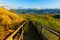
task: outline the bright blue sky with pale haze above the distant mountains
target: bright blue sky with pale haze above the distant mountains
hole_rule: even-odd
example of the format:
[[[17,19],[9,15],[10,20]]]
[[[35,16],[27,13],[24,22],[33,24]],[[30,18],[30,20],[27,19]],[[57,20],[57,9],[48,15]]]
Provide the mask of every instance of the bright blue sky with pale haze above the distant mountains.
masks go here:
[[[1,0],[13,8],[60,8],[60,0]]]

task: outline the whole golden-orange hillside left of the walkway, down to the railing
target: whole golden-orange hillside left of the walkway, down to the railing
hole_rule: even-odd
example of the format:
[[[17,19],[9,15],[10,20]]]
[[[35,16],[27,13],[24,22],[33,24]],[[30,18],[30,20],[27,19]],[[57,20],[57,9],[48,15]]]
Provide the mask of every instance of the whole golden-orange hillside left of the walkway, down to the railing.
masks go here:
[[[3,40],[6,35],[13,32],[23,21],[21,16],[0,7],[0,39]]]

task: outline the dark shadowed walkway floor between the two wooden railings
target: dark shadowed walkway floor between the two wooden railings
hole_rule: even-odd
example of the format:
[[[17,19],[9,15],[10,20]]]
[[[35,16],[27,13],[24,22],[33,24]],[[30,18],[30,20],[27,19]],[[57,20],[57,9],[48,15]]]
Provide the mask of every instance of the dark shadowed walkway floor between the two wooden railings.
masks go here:
[[[32,23],[32,21],[29,21],[28,25],[29,25],[29,31],[25,33],[24,40],[47,40],[47,38],[44,35],[42,35],[42,33],[38,33],[38,30],[36,26]]]

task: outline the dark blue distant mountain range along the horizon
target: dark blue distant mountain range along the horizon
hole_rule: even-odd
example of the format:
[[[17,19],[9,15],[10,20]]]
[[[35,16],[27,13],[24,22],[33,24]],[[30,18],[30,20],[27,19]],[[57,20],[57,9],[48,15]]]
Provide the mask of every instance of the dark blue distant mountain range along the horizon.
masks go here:
[[[41,14],[41,13],[50,13],[50,14],[60,14],[60,9],[15,9],[15,12],[17,13],[35,13],[35,14]]]

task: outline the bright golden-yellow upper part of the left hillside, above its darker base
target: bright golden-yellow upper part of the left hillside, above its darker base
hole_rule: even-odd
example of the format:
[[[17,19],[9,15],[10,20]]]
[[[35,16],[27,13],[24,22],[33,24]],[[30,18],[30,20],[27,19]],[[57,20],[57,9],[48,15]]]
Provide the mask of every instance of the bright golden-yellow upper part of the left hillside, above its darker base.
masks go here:
[[[2,7],[0,7],[0,25],[9,25],[12,23],[22,22],[23,18],[18,14],[12,13]]]

